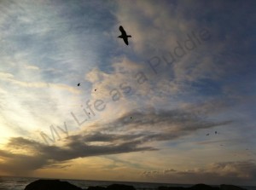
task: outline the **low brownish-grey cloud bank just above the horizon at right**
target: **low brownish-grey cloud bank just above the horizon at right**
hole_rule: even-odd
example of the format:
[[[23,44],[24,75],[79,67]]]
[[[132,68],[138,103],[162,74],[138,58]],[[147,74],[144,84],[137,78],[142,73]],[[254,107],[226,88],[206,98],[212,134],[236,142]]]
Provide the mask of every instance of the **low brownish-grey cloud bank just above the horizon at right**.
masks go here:
[[[167,172],[165,172],[167,171]],[[255,181],[256,163],[252,160],[220,162],[201,165],[201,168],[189,170],[149,170],[143,171],[142,176],[148,180],[168,182],[183,182],[195,184],[204,181],[208,184],[231,183],[249,185]],[[170,181],[171,179],[171,181]]]

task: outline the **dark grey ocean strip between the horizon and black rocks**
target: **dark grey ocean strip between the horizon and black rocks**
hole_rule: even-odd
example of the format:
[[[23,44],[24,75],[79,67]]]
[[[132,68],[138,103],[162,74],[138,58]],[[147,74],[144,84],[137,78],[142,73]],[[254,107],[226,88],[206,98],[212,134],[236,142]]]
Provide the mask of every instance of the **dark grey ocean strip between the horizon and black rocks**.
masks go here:
[[[0,177],[0,190],[24,190],[26,185],[32,181],[36,181],[39,178],[28,178],[28,177]],[[40,178],[42,179],[42,178]],[[89,181],[89,180],[61,180],[68,181],[73,185],[82,187],[83,189],[90,186],[102,186],[107,187],[113,183],[131,185],[137,190],[156,190],[160,186],[168,187],[191,187],[189,184],[170,184],[170,183],[149,183],[149,182],[127,182],[127,181]],[[195,184],[193,184],[195,185]],[[247,190],[256,190],[256,187],[244,187]]]

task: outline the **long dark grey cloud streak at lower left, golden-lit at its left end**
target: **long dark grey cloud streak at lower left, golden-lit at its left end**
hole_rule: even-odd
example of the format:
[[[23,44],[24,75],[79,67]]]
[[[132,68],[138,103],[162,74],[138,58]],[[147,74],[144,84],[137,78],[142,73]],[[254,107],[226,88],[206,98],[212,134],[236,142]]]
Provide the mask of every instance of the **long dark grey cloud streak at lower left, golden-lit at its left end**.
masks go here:
[[[74,158],[84,158],[117,153],[152,151],[153,147],[139,147],[140,141],[109,142],[109,145],[87,145],[82,136],[70,136],[65,147],[46,146],[22,137],[12,138],[7,150],[0,152],[0,169],[10,174],[22,174],[50,167]],[[20,153],[13,153],[13,151]],[[23,150],[26,153],[22,153]]]

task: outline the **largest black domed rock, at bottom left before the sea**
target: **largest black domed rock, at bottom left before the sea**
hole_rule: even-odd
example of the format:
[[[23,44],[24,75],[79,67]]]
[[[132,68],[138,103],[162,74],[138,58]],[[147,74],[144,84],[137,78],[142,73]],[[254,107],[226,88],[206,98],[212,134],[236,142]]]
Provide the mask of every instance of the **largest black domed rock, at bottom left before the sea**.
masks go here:
[[[37,180],[28,184],[25,190],[82,190],[67,181],[60,180]]]

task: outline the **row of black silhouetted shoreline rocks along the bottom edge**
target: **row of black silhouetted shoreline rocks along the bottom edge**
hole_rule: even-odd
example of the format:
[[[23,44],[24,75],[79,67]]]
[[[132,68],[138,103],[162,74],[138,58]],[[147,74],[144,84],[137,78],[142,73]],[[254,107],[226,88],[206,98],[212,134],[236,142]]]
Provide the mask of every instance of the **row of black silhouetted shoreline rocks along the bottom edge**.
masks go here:
[[[37,180],[28,184],[24,190],[136,190],[135,187],[123,184],[112,184],[108,187],[88,187],[82,189],[67,181],[60,180]],[[157,190],[246,190],[242,187],[233,185],[220,185],[219,187],[212,187],[206,184],[196,184],[192,187],[158,187]]]

